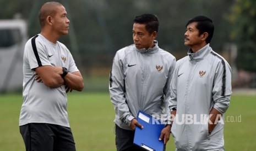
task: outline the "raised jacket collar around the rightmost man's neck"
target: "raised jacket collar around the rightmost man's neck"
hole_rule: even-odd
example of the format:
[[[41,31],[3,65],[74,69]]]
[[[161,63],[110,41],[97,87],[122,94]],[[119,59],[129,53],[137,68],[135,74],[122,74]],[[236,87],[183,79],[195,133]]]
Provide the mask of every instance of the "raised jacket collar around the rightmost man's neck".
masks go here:
[[[188,50],[189,60],[200,61],[209,54],[211,51],[210,44],[206,44],[203,48],[199,49],[196,53],[193,53],[192,49]]]

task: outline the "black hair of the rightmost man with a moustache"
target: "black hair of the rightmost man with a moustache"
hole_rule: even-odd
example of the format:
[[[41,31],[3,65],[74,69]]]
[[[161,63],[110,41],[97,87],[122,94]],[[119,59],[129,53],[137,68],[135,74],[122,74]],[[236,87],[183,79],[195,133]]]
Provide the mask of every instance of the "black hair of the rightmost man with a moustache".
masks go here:
[[[213,20],[206,16],[196,16],[188,21],[186,27],[192,22],[197,22],[197,25],[195,27],[199,30],[199,35],[203,34],[204,32],[208,33],[208,37],[205,41],[206,43],[210,43],[211,38],[213,38],[214,34]]]

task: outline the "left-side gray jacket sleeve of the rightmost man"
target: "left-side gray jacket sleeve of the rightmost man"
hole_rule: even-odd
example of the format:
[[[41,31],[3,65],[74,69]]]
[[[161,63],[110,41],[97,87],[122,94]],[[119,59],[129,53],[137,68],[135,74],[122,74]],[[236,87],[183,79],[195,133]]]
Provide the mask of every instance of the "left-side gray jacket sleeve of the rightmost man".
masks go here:
[[[170,85],[170,99],[168,100],[169,103],[169,109],[171,110],[172,108],[177,108],[177,74],[178,74],[178,69],[177,69],[177,63],[175,66],[175,69],[172,74],[172,80],[171,80],[171,85]]]

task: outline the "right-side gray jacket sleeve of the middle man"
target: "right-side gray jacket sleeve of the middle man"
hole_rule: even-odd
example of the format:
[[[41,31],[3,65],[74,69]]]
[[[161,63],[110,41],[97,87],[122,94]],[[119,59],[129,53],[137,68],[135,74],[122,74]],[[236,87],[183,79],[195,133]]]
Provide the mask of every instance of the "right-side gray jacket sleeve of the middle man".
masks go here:
[[[171,80],[172,80],[172,74],[173,74],[175,64],[176,64],[176,59],[173,58],[173,60],[171,60],[170,63],[171,63],[171,66],[169,69],[168,78],[167,78],[166,85],[164,88],[166,114],[170,114],[170,109],[169,109],[169,100],[171,98],[170,85],[171,85]]]

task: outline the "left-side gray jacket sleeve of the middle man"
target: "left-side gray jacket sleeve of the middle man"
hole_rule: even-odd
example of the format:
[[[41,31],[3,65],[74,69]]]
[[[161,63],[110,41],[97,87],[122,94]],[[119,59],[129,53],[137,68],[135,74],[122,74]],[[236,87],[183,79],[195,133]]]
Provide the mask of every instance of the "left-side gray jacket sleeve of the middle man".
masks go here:
[[[127,125],[130,125],[130,122],[134,117],[129,112],[129,107],[126,103],[126,95],[124,94],[124,78],[123,60],[117,52],[113,59],[113,65],[110,72],[110,99],[115,108],[116,118],[120,119]]]

